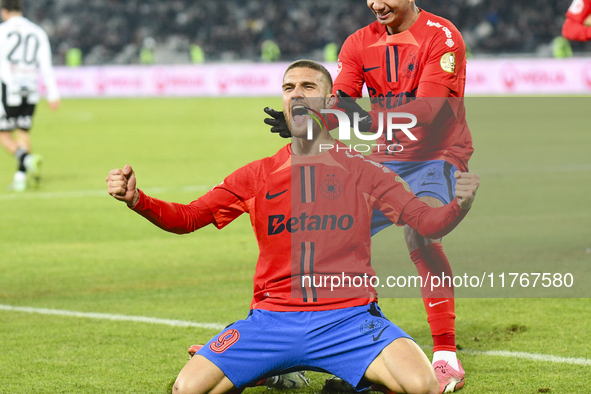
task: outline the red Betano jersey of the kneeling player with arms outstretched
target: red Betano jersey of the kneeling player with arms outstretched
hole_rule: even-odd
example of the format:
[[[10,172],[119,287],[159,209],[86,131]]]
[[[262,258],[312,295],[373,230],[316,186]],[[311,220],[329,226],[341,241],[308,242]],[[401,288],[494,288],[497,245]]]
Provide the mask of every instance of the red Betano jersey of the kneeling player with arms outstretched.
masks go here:
[[[273,311],[339,309],[376,299],[371,285],[322,285],[331,275],[375,275],[370,264],[374,209],[428,238],[447,234],[467,212],[456,200],[428,207],[397,174],[340,143],[308,157],[293,155],[287,145],[235,171],[190,204],[140,192],[133,209],[179,234],[208,224],[221,229],[248,213],[260,251],[251,307]]]

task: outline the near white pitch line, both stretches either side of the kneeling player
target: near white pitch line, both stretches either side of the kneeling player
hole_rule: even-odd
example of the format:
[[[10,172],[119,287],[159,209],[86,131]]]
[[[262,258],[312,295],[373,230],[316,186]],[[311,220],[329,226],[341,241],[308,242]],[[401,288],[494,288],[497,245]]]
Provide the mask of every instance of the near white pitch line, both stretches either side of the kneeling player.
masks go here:
[[[86,319],[99,319],[99,320],[111,320],[111,321],[129,321],[138,323],[149,323],[149,324],[162,324],[172,327],[195,327],[195,328],[207,328],[211,330],[220,331],[226,327],[225,324],[220,323],[196,323],[183,320],[169,320],[169,319],[158,319],[155,317],[146,316],[128,316],[128,315],[114,315],[111,313],[89,313],[89,312],[74,312],[62,309],[47,309],[47,308],[31,308],[25,306],[11,306],[0,304],[0,310],[9,312],[25,312],[25,313],[36,313],[41,315],[54,315],[54,316],[67,316],[67,317],[80,317]],[[430,347],[424,347],[429,348]],[[591,359],[588,358],[575,358],[575,357],[559,357],[551,354],[539,354],[539,353],[525,353],[525,352],[510,352],[506,350],[460,350],[461,353],[482,355],[482,356],[495,356],[495,357],[507,357],[507,358],[519,358],[538,362],[551,362],[559,364],[571,364],[571,365],[583,365],[591,366]]]

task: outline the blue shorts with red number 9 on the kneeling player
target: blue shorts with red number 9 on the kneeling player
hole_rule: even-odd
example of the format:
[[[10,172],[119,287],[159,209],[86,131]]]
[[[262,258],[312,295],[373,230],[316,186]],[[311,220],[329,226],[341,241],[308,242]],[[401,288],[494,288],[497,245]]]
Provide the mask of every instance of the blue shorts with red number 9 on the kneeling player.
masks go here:
[[[371,362],[398,338],[410,338],[376,303],[313,312],[253,309],[197,354],[220,368],[234,386],[294,371],[334,374],[357,390]]]

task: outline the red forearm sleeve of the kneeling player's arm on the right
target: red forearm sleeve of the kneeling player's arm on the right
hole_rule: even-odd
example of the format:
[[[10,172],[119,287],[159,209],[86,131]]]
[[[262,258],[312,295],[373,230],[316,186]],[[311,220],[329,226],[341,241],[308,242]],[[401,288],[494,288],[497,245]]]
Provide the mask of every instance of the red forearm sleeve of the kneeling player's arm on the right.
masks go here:
[[[439,208],[432,208],[415,198],[402,211],[400,219],[425,238],[437,239],[449,234],[460,222],[468,209],[462,209],[457,199]]]

